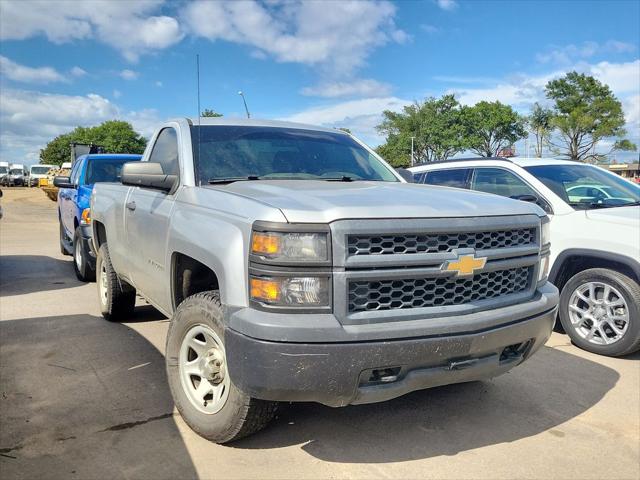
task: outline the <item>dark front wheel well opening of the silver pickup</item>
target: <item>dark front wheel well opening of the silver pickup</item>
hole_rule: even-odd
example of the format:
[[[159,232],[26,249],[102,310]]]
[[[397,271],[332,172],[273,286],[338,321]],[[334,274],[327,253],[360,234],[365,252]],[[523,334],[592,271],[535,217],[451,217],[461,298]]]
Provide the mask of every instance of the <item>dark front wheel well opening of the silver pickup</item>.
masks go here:
[[[174,308],[191,295],[220,288],[215,272],[205,264],[187,255],[174,253],[172,265]]]

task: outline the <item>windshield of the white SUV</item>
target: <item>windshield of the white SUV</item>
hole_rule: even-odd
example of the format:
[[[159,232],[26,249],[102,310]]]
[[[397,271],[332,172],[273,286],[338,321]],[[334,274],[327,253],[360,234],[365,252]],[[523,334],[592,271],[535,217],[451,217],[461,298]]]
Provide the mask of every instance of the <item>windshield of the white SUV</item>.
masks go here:
[[[640,202],[640,186],[592,165],[525,167],[573,208],[620,207]]]

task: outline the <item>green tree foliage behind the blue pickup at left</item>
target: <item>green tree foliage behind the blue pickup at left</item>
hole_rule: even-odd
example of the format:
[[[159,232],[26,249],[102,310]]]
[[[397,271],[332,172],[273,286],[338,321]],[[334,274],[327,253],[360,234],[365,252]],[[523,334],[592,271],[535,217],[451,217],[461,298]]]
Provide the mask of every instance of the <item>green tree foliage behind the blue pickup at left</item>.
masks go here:
[[[76,127],[58,135],[40,150],[40,163],[61,165],[71,160],[72,143],[93,143],[108,153],[143,153],[147,140],[130,123],[109,120],[95,127]]]

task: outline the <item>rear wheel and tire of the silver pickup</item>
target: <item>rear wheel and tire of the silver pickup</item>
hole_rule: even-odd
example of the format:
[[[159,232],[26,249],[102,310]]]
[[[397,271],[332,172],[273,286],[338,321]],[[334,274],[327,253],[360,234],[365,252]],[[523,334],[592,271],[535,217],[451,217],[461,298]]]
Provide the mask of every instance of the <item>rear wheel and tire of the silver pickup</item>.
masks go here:
[[[98,251],[96,274],[102,316],[110,322],[118,322],[129,317],[136,304],[136,291],[118,277],[111,265],[106,243],[100,245]]]

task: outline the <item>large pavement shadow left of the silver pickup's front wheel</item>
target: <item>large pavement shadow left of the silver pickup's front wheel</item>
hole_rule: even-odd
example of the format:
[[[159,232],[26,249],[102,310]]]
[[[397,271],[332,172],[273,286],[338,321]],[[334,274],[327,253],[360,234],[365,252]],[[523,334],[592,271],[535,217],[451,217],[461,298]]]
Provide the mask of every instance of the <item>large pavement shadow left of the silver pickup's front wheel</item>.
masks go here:
[[[164,357],[137,332],[71,315],[0,322],[0,338],[2,478],[197,477]]]

